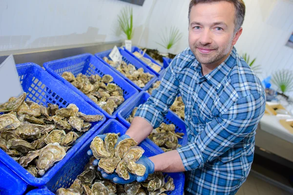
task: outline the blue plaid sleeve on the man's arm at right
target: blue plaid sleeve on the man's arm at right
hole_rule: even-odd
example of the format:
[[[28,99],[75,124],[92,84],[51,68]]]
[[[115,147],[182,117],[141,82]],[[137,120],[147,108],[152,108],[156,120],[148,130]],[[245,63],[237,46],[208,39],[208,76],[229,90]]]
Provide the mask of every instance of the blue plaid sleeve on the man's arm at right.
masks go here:
[[[201,168],[255,131],[265,112],[265,95],[238,99],[228,111],[207,123],[194,142],[177,149],[186,171]]]

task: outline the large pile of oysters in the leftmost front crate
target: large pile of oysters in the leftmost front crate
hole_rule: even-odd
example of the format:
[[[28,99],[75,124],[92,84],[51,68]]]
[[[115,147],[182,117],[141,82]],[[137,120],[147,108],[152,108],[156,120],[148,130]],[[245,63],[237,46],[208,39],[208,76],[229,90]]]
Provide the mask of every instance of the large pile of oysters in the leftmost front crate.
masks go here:
[[[0,148],[33,176],[43,176],[63,159],[75,140],[103,116],[85,115],[74,104],[43,107],[26,93],[0,104]]]

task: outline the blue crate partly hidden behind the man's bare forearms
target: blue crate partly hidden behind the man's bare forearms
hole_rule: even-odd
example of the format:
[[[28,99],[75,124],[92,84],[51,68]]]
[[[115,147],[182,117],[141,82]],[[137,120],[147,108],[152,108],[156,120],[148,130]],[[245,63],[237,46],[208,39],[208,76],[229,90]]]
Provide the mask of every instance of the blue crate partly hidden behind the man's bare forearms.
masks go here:
[[[146,100],[150,97],[150,95],[146,92],[140,92],[139,95],[136,98],[133,98],[121,111],[118,113],[118,119],[119,121],[124,124],[126,127],[130,126],[130,123],[126,120],[126,118],[129,117],[132,110],[135,107],[138,107],[139,105],[146,102]],[[178,142],[180,145],[186,145],[188,143],[188,136],[186,133],[186,127],[184,121],[179,118],[175,113],[173,113],[171,110],[167,113],[167,115],[164,117],[164,121],[166,124],[173,123],[175,125],[175,132],[184,133],[184,136],[182,139],[178,139]],[[149,138],[146,138],[146,141],[151,144],[153,147],[158,147],[155,145]],[[163,151],[158,147],[159,150]]]

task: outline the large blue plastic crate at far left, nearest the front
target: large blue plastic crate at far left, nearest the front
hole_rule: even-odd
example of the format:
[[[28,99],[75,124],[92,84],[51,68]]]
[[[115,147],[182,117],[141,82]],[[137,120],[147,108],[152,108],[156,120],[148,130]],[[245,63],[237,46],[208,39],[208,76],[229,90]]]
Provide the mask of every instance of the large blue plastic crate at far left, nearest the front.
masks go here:
[[[66,87],[62,82],[44,71],[39,65],[34,63],[19,64],[17,65],[17,71],[20,77],[22,89],[27,93],[26,100],[35,101],[41,105],[53,103],[57,104],[59,108],[66,107],[68,104],[74,103],[79,107],[80,112],[83,112],[84,114],[103,115],[100,111],[84,101],[83,98]],[[64,156],[61,161],[53,165],[41,178],[32,176],[3,150],[0,150],[0,167],[3,168],[6,165],[3,169],[9,169],[17,175],[11,175],[12,177],[15,177],[15,183],[21,183],[24,181],[31,186],[45,185],[59,172],[63,165],[70,160],[71,156],[79,150],[84,142],[91,137],[91,135],[97,132],[97,129],[105,122],[105,120],[106,118],[104,117],[102,121],[92,123],[92,127],[84,133],[82,137],[75,141],[73,146],[67,151],[66,156]],[[9,171],[6,175],[10,175]],[[14,186],[9,180],[0,182],[0,189],[5,187],[8,187],[12,191],[15,190],[16,192],[19,190],[13,189]]]

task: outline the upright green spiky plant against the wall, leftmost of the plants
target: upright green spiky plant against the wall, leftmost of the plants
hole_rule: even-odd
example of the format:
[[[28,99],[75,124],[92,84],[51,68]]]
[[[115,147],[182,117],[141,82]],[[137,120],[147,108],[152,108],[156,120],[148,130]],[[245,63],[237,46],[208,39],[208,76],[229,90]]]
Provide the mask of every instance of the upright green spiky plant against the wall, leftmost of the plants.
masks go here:
[[[126,35],[128,40],[131,40],[133,37],[133,12],[132,8],[125,7],[121,10],[120,14],[118,15],[118,22],[120,29]]]

